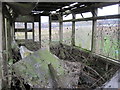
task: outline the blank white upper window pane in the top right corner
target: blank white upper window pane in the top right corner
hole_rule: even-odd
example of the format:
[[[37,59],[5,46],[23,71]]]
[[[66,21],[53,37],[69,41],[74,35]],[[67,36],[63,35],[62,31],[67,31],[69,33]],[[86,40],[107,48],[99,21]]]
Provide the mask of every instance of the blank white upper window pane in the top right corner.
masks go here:
[[[98,16],[118,14],[118,7],[119,5],[116,4],[116,5],[103,7],[102,9],[98,8]]]

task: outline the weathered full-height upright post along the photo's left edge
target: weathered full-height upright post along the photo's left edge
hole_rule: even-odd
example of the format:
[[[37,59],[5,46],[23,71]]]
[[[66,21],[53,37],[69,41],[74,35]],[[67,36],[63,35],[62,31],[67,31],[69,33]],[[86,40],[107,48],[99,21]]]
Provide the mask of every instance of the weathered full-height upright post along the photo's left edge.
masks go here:
[[[7,59],[5,59],[4,50],[6,48],[4,14],[2,12],[2,2],[0,2],[0,90],[7,90],[8,70]]]

